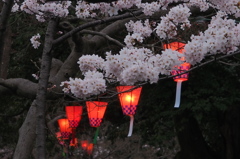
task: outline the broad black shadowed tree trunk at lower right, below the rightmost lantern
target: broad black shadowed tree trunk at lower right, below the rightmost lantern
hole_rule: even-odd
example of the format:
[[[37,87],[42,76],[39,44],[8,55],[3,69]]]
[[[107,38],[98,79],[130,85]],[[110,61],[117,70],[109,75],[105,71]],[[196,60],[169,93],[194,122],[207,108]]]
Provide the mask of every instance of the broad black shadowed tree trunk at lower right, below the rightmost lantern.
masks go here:
[[[179,112],[180,113],[180,112]],[[174,119],[181,151],[175,159],[215,159],[206,144],[197,120],[190,111],[177,114]]]

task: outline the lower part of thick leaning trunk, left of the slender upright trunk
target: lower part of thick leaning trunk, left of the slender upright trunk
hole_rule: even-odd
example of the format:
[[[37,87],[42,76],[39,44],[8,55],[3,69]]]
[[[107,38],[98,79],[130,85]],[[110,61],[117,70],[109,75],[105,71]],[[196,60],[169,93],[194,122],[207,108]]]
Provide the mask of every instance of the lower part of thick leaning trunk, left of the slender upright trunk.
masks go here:
[[[19,129],[18,143],[13,159],[29,159],[36,139],[36,103],[35,100],[28,111],[27,117]]]

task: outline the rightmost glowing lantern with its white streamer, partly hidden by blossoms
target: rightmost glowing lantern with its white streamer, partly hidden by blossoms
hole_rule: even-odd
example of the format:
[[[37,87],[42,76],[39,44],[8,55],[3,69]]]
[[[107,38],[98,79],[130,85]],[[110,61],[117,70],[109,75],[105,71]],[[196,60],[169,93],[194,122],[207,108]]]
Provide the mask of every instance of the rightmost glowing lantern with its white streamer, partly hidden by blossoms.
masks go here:
[[[170,44],[163,45],[164,49],[172,49],[174,51],[178,51],[179,53],[183,53],[185,51],[184,46],[185,46],[185,44],[181,43],[181,42],[172,42]],[[182,57],[179,60],[185,61],[185,58]],[[190,67],[191,67],[190,63],[184,62],[180,66],[176,66],[177,69],[172,70],[172,72],[171,72],[172,75],[181,74],[181,75],[173,77],[174,81],[177,82],[176,100],[175,100],[174,108],[178,108],[180,106],[182,82],[187,81],[188,75],[189,75],[188,73],[183,73],[183,72],[188,71],[190,69]]]

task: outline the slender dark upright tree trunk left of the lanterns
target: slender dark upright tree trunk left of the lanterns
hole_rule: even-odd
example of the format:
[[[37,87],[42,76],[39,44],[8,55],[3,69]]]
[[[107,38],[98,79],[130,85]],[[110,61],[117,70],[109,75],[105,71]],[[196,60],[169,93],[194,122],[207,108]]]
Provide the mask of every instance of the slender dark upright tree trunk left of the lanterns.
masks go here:
[[[52,19],[48,23],[48,28],[46,31],[44,49],[42,54],[41,69],[40,69],[40,78],[38,83],[38,91],[36,97],[37,104],[37,139],[36,139],[36,148],[37,148],[37,158],[45,159],[46,158],[46,149],[45,149],[45,105],[46,105],[46,94],[48,87],[49,74],[51,69],[51,49],[53,35],[57,26],[56,20]]]

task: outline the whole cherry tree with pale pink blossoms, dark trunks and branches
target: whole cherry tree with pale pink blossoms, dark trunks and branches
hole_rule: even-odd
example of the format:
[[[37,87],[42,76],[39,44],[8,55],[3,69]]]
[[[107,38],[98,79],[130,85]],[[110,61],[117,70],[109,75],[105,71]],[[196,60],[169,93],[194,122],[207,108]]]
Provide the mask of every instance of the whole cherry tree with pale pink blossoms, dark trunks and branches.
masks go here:
[[[37,158],[46,158],[48,99],[65,95],[84,101],[101,98],[103,94],[107,94],[104,98],[112,98],[117,95],[112,91],[116,85],[156,84],[172,78],[171,71],[181,63],[190,63],[190,72],[240,53],[237,21],[240,2],[237,0],[94,2],[97,1],[15,0],[12,4],[12,0],[3,0],[1,62],[10,10],[13,14],[27,13],[39,23],[47,24],[44,34],[36,30],[28,41],[36,50],[43,46],[40,75],[33,75],[38,83],[23,78],[0,79],[1,94],[10,92],[33,99],[19,131],[14,159],[28,158],[35,139]],[[201,23],[207,28],[195,30]],[[123,35],[116,37],[119,32]],[[70,51],[61,62],[54,57],[54,51],[65,41]],[[182,54],[163,49],[164,44],[173,41],[186,44]],[[107,45],[114,47],[100,52]],[[184,61],[179,60],[182,58]],[[179,158],[189,157],[184,153]],[[207,150],[204,153],[204,157],[214,158]],[[236,152],[230,152],[227,159],[233,153]]]

